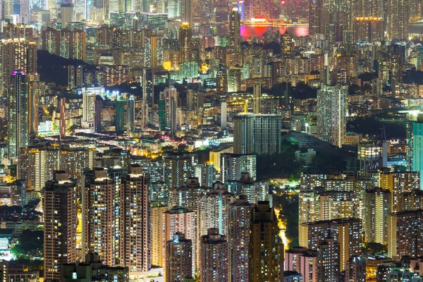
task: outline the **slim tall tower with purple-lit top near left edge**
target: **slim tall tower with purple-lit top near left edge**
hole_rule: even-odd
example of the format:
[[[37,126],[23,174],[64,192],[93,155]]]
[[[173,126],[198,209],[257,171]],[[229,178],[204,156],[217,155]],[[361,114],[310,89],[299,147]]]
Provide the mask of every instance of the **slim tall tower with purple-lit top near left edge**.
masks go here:
[[[30,93],[27,75],[16,70],[8,91],[8,157],[16,160],[30,142]]]

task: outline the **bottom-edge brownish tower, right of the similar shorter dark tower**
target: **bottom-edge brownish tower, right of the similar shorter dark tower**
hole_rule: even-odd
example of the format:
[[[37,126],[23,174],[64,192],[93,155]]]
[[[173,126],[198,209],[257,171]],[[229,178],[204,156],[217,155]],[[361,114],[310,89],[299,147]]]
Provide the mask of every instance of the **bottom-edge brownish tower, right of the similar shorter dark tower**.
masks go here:
[[[202,282],[228,281],[228,241],[219,229],[211,228],[200,243],[200,277]]]

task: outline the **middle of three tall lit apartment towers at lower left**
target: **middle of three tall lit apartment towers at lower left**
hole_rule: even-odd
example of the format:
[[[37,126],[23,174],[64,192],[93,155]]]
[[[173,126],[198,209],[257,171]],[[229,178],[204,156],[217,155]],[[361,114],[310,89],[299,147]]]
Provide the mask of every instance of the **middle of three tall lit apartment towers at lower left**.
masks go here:
[[[94,168],[82,188],[82,254],[96,252],[108,266],[115,266],[114,180],[107,168]]]

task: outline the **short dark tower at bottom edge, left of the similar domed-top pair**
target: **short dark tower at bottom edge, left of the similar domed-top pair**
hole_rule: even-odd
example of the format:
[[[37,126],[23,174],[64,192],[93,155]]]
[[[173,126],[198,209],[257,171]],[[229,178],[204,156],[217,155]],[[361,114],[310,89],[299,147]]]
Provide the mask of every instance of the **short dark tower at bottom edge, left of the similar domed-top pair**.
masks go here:
[[[166,282],[192,278],[192,240],[176,233],[166,243]]]

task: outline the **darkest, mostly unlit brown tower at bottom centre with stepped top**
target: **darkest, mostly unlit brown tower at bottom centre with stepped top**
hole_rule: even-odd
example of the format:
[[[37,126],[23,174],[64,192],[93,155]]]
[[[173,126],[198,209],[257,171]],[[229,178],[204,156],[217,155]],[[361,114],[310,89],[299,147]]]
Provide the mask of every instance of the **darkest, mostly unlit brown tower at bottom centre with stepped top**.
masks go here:
[[[248,281],[283,280],[283,245],[279,243],[278,219],[269,202],[258,202],[251,212]]]

